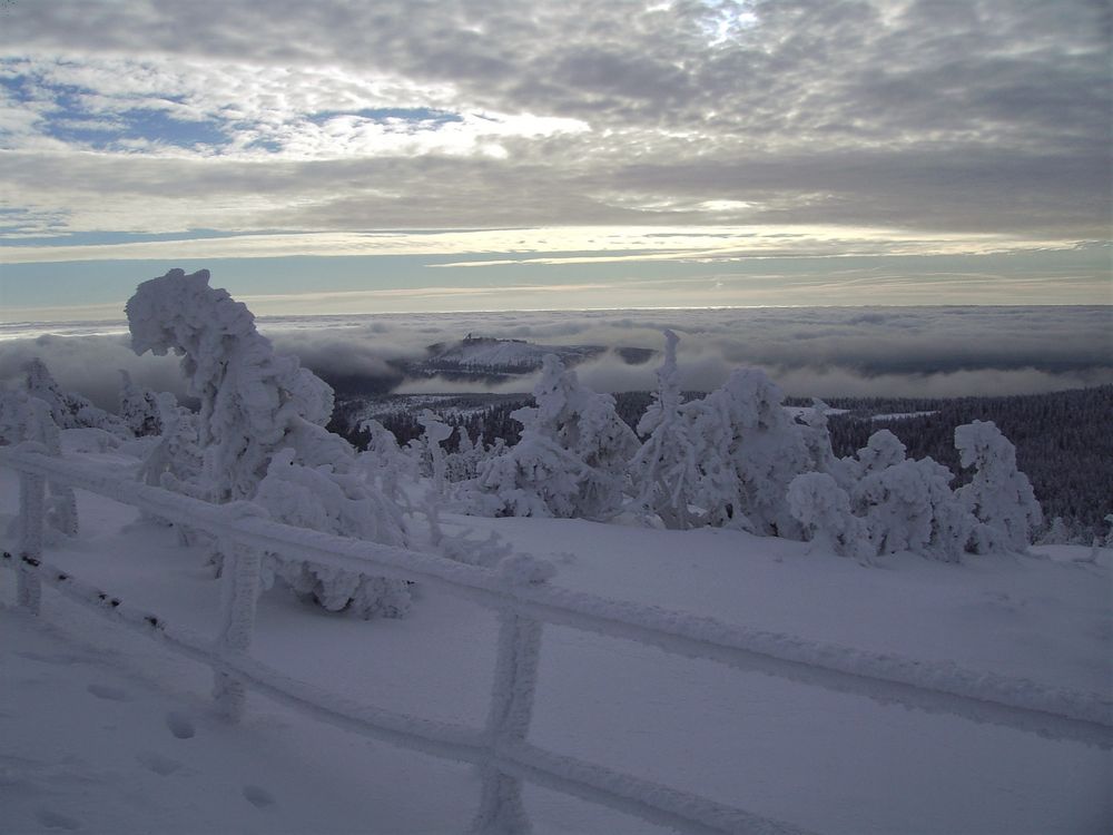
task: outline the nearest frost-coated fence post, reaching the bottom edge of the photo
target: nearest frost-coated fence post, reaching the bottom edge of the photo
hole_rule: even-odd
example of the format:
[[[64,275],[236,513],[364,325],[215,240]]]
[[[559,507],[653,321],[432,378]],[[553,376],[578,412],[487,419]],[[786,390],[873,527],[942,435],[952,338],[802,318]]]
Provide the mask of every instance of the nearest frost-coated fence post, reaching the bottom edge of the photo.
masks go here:
[[[515,586],[544,582],[555,573],[551,563],[522,556],[504,558],[496,571],[511,593]],[[503,743],[524,740],[530,733],[540,658],[541,622],[511,608],[502,609],[486,723],[492,755],[498,755]],[[501,772],[492,757],[492,762],[483,766],[483,789],[471,832],[518,835],[529,831],[530,818],[522,804],[522,780]]]

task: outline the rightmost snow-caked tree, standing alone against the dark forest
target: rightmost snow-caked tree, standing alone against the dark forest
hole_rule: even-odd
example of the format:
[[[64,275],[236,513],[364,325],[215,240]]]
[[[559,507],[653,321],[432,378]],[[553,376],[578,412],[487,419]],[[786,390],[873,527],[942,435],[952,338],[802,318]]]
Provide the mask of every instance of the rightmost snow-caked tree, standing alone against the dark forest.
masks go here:
[[[1027,475],[1016,469],[1016,448],[993,421],[974,421],[955,429],[955,449],[962,465],[974,468],[971,483],[957,491],[978,521],[974,552],[1027,550],[1043,511]]]

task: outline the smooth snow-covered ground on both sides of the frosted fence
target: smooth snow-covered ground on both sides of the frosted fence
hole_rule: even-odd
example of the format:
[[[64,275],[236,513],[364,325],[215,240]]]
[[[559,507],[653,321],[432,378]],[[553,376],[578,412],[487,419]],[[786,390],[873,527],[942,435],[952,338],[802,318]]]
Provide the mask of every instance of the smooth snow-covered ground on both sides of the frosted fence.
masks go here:
[[[105,460],[104,458],[101,460]],[[0,531],[16,510],[0,471]],[[211,635],[204,556],[134,509],[79,492],[82,532],[48,547],[76,576]],[[728,530],[446,517],[552,559],[553,583],[741,627],[954,661],[1109,697],[1105,551],[1037,548],[956,567],[898,554],[865,568],[799,542]],[[3,547],[12,547],[10,538]],[[471,766],[395,749],[253,697],[229,725],[211,674],[46,592],[13,606],[0,572],[0,831],[453,833],[480,790]],[[482,725],[493,615],[426,590],[405,620],[328,616],[268,592],[253,652],[361,703]],[[830,833],[1107,832],[1107,748],[927,710],[886,694],[741,670],[548,626],[530,741]],[[1084,737],[1084,735],[1082,735]],[[1101,737],[1107,740],[1109,735]],[[1095,737],[1096,739],[1096,737]],[[649,824],[530,787],[538,833]]]

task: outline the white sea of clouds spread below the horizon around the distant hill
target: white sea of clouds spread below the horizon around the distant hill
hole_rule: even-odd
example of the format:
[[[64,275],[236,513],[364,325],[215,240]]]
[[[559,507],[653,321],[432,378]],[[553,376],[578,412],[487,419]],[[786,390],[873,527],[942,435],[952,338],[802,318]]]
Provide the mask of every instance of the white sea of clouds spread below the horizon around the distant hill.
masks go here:
[[[660,350],[666,327],[680,335],[683,385],[710,390],[732,369],[766,370],[802,396],[963,396],[1026,394],[1113,383],[1113,308],[761,307],[668,311],[422,313],[260,318],[279,353],[326,379],[396,376],[388,364],[420,360],[426,347],[467,334],[545,345]],[[0,381],[18,380],[41,357],[59,383],[114,407],[118,370],[179,396],[174,356],[136,356],[126,323],[0,326]],[[597,391],[656,387],[650,362],[613,351],[578,366]],[[410,380],[400,392],[529,391],[532,377],[500,386]]]

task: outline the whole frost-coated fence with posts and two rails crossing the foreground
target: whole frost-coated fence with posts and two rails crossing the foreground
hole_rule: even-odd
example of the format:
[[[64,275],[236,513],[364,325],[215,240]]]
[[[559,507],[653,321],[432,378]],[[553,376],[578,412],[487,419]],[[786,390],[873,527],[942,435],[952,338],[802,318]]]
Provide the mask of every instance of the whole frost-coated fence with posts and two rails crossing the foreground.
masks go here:
[[[248,502],[210,504],[154,488],[87,462],[41,454],[33,446],[0,449],[0,463],[20,473],[19,553],[3,554],[18,573],[20,606],[38,612],[41,583],[160,639],[210,666],[220,708],[233,719],[248,686],[315,717],[393,744],[481,766],[483,789],[473,831],[521,832],[528,779],[684,832],[789,833],[786,824],[619,772],[553,754],[526,741],[544,622],[634,640],[668,652],[706,658],[828,689],[948,713],[1053,738],[1113,747],[1113,700],[1033,681],[919,662],[807,641],[711,618],[609,600],[531,582],[529,564],[508,558],[495,569],[294,528],[262,518]],[[47,479],[98,493],[215,537],[226,559],[223,623],[214,642],[174,628],[42,561]],[[345,571],[415,580],[464,596],[499,613],[494,686],[482,729],[367,707],[296,681],[250,657],[255,599],[264,552]],[[522,569],[525,570],[522,570]]]

